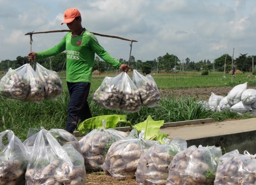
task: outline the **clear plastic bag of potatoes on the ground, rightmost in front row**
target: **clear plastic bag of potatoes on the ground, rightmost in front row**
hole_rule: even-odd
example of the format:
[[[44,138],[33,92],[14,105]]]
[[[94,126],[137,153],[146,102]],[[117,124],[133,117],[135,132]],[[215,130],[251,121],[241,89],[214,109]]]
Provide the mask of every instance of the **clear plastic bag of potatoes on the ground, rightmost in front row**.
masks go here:
[[[220,157],[214,184],[256,184],[256,154],[246,150],[240,154],[237,149]]]

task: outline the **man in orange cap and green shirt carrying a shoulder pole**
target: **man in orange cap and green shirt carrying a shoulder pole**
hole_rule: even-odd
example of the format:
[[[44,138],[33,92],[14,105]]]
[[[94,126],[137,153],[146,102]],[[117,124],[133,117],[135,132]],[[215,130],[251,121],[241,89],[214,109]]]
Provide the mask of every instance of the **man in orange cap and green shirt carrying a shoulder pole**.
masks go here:
[[[97,41],[94,34],[86,30],[77,8],[69,8],[64,12],[64,20],[71,32],[54,47],[41,52],[30,52],[29,60],[45,58],[66,50],[66,78],[70,95],[68,104],[68,120],[66,130],[73,133],[79,119],[84,121],[92,117],[87,97],[90,90],[92,67],[95,53],[116,69],[127,72],[130,66],[114,59]]]

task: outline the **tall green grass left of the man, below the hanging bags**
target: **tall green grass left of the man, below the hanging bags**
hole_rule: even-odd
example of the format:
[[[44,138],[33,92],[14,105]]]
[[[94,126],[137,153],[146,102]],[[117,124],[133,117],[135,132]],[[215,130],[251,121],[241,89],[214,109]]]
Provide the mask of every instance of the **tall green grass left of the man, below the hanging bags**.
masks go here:
[[[57,99],[40,103],[0,97],[0,131],[11,129],[25,139],[29,128],[65,128],[68,99],[66,90]]]

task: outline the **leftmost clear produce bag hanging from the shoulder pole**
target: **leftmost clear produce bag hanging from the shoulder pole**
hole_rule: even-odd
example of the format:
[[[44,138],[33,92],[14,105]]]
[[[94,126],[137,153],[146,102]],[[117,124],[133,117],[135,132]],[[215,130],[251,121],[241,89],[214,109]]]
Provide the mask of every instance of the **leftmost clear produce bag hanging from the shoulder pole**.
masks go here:
[[[12,99],[25,99],[29,93],[29,81],[10,68],[0,80],[0,95]]]

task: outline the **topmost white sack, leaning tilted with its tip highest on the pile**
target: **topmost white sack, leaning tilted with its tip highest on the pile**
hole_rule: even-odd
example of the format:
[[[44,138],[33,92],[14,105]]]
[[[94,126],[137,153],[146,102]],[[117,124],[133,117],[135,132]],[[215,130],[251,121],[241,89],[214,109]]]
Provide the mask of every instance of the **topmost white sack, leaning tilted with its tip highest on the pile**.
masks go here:
[[[247,88],[247,82],[234,86],[227,94],[227,101],[230,105],[241,100],[242,92]]]

